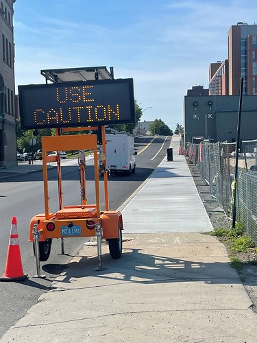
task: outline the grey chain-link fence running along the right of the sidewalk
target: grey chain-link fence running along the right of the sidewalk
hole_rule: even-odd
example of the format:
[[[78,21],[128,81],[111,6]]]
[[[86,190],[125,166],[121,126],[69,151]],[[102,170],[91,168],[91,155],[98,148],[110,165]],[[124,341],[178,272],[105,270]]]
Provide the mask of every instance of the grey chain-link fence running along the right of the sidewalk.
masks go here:
[[[257,244],[257,140],[243,141],[235,181],[236,143],[187,143],[184,154],[210,187],[223,211],[232,218],[236,188],[236,221]]]

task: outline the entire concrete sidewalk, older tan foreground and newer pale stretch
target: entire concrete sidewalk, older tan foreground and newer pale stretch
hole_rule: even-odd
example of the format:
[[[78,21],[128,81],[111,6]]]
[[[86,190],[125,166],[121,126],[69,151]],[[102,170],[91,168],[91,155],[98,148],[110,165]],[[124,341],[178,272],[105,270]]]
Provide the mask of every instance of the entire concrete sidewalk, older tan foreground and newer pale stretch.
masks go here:
[[[97,249],[84,246],[1,342],[257,342],[252,302],[203,233],[212,226],[177,137],[171,147],[174,161],[122,207],[121,259],[103,244],[96,271]]]

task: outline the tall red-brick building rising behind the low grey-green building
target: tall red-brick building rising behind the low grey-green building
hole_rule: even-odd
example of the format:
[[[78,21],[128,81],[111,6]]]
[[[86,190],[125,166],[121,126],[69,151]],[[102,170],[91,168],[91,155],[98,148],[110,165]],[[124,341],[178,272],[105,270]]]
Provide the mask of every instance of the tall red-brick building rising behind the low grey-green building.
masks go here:
[[[257,95],[257,25],[239,21],[228,32],[228,60],[210,64],[209,94],[239,95],[241,77],[243,95]]]

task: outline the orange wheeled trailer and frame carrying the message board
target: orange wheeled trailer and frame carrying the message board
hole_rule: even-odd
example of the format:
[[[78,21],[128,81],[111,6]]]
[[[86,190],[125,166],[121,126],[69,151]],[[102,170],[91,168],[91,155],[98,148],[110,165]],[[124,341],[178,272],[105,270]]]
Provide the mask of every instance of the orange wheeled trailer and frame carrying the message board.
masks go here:
[[[98,130],[98,127],[64,128],[63,131]],[[99,166],[97,151],[97,134],[58,135],[42,137],[42,169],[45,193],[45,213],[35,215],[29,227],[29,241],[34,241],[35,256],[38,252],[40,261],[47,261],[51,252],[51,242],[54,238],[66,237],[93,237],[97,236],[97,245],[101,239],[108,240],[110,255],[113,259],[121,257],[123,220],[119,210],[110,211],[108,205],[108,175],[103,175],[105,209],[100,209],[99,194]],[[103,156],[106,152],[106,134],[101,126],[101,139],[103,142]],[[95,169],[95,204],[86,202],[86,173],[85,163],[80,163],[80,182],[82,203],[74,206],[64,206],[62,203],[62,173],[60,167],[60,154],[47,156],[47,152],[56,150],[93,150]],[[51,213],[49,209],[49,189],[47,179],[47,163],[57,162],[58,192],[60,210]],[[103,161],[106,165],[106,159]],[[35,228],[38,235],[35,235]],[[36,237],[36,238],[35,238]],[[99,239],[101,237],[101,239]],[[37,241],[36,241],[37,240]],[[37,247],[35,247],[35,245]],[[98,247],[99,248],[99,247]],[[36,252],[35,252],[36,250]],[[98,249],[98,255],[101,249]],[[101,257],[99,257],[101,259]],[[100,263],[100,262],[99,262]]]

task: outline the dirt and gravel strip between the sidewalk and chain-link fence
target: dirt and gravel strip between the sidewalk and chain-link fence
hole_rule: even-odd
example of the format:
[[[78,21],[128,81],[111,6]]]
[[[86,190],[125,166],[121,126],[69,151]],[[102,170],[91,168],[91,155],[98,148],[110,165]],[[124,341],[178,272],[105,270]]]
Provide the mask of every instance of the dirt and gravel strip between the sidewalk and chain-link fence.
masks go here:
[[[210,195],[210,187],[201,178],[199,171],[195,165],[188,163],[188,167],[193,176],[195,186],[204,204],[206,212],[210,218],[213,228],[232,228],[232,220],[225,215],[219,202]],[[247,294],[252,300],[252,309],[257,313],[257,254],[254,249],[248,249],[247,252],[234,252],[230,249],[228,239],[225,237],[218,237],[228,252],[230,258],[235,261],[232,263],[233,267],[238,272],[239,277]]]

